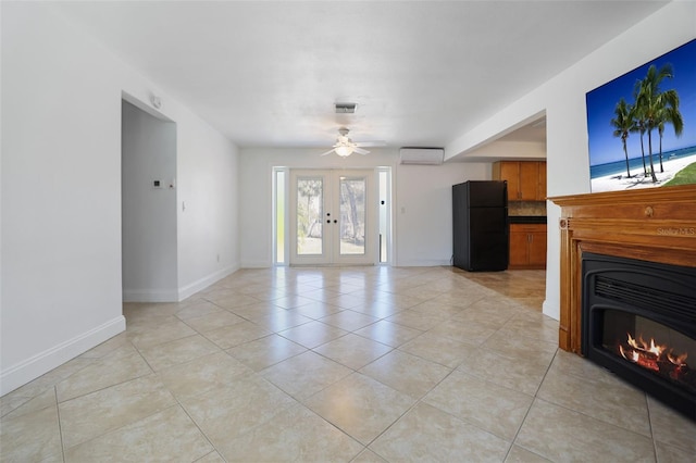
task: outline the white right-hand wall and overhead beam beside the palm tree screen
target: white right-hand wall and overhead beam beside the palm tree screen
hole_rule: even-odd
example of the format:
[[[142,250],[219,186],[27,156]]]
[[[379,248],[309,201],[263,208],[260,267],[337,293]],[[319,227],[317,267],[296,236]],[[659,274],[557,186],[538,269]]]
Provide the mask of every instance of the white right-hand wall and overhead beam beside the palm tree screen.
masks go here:
[[[696,2],[671,2],[446,147],[468,152],[546,111],[548,196],[589,192],[585,93],[696,37]],[[560,313],[560,209],[548,204],[544,313]]]

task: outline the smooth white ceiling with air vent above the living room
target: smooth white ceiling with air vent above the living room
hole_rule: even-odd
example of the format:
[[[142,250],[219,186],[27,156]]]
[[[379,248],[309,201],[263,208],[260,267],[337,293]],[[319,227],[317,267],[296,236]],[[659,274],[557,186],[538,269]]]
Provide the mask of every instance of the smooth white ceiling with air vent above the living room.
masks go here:
[[[356,141],[443,147],[664,3],[96,1],[52,8],[239,147],[328,147],[344,125]],[[335,102],[356,102],[358,110],[338,115]]]

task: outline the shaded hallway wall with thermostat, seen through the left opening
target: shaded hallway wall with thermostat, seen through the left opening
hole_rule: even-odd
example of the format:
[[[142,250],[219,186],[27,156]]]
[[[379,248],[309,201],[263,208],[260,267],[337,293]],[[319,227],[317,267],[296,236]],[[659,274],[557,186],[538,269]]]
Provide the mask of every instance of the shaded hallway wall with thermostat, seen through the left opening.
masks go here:
[[[123,300],[177,301],[176,125],[122,107]]]

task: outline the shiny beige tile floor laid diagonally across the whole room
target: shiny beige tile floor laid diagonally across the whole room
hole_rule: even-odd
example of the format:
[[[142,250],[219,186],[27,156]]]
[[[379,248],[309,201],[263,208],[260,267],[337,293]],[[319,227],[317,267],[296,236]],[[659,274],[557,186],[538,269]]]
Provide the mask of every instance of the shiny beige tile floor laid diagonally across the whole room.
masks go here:
[[[2,397],[2,462],[693,462],[557,349],[544,272],[244,270]]]

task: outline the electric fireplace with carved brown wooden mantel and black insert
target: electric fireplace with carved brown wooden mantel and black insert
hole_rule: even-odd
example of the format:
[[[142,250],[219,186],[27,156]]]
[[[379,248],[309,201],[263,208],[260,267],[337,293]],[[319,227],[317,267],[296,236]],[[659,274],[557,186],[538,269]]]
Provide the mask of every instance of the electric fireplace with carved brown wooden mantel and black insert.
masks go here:
[[[696,185],[549,199],[561,207],[559,348],[696,421]]]

